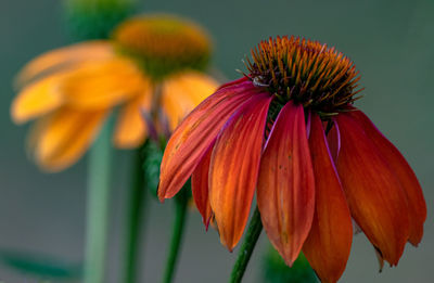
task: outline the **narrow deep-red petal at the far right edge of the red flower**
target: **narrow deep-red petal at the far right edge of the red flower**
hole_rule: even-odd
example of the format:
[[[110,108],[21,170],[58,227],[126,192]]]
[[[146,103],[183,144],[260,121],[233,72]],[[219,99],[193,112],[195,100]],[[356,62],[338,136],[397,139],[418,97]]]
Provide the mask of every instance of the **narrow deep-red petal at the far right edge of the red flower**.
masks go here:
[[[426,219],[426,204],[418,178],[395,145],[380,132],[361,111],[355,110],[354,112],[349,112],[348,115],[361,126],[398,178],[408,202],[410,220],[409,242],[412,245],[418,245],[422,240],[423,223]]]

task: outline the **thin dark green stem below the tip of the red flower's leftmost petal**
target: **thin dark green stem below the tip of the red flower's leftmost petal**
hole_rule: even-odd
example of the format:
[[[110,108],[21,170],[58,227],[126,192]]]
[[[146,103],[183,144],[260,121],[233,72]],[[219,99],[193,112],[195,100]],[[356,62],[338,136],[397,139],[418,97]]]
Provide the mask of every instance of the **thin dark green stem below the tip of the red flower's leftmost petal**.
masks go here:
[[[175,222],[170,240],[169,256],[166,262],[166,270],[164,272],[164,283],[170,283],[175,275],[175,269],[179,257],[179,248],[182,241],[183,228],[187,218],[187,204],[189,201],[189,188],[184,185],[175,198]]]

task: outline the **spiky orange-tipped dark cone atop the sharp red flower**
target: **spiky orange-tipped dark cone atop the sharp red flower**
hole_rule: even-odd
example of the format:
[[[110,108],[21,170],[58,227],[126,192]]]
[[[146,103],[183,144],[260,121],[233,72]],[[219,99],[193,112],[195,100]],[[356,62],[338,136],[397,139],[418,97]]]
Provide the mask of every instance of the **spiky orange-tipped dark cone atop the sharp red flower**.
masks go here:
[[[353,103],[360,79],[354,63],[334,48],[295,37],[261,41],[246,67],[253,83],[278,98],[302,103],[321,117],[335,115]]]

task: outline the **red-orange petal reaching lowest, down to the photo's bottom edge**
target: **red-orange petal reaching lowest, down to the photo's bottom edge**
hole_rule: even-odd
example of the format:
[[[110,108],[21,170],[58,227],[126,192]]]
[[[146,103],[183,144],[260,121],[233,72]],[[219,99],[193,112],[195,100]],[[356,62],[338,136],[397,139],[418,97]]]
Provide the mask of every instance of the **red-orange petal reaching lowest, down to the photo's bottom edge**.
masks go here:
[[[353,223],[317,114],[311,115],[309,147],[315,173],[315,214],[303,253],[321,282],[337,282],[349,257]]]

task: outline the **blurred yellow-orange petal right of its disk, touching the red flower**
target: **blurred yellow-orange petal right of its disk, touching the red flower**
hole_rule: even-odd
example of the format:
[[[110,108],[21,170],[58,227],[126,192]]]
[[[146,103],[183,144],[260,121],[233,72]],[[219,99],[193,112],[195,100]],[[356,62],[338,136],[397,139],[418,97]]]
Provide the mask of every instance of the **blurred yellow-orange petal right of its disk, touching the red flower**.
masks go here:
[[[196,72],[177,75],[165,81],[162,102],[171,130],[195,106],[213,94],[217,86],[215,80]]]

